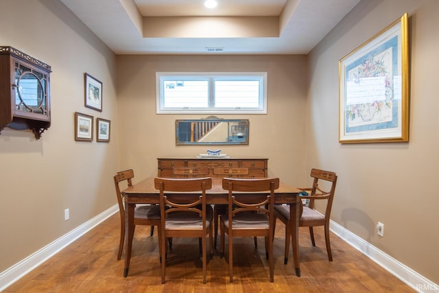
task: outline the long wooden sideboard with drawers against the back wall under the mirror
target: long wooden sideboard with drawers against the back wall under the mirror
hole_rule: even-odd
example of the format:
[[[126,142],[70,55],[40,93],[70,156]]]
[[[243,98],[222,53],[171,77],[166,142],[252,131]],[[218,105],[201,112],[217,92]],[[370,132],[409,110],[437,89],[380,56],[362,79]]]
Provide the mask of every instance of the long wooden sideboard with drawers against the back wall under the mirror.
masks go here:
[[[239,158],[158,158],[158,177],[187,178],[187,177],[233,177],[233,178],[263,178],[268,177],[268,159],[239,159]],[[174,167],[209,167],[209,174],[194,172],[193,174],[175,174]],[[230,168],[230,169],[229,169]],[[248,172],[242,172],[247,168]],[[214,172],[215,171],[215,172]]]

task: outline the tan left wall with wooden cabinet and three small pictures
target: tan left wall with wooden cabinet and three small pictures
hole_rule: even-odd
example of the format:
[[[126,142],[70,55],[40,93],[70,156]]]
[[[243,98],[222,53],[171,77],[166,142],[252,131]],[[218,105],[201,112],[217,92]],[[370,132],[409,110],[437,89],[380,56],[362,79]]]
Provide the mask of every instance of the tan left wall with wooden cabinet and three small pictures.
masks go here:
[[[0,27],[0,45],[53,71],[49,130],[0,134],[1,272],[116,203],[118,139],[115,55],[61,1],[2,0]],[[103,82],[102,113],[84,107],[84,72]],[[76,142],[75,111],[110,119],[111,142]]]

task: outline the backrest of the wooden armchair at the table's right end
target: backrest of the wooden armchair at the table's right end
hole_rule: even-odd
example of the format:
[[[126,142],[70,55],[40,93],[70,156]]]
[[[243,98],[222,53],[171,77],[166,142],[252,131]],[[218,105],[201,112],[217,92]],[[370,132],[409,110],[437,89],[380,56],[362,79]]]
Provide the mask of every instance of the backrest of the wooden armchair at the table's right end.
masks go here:
[[[322,198],[327,198],[327,208],[325,211],[325,216],[331,215],[332,202],[334,198],[335,185],[337,184],[337,174],[335,172],[324,171],[320,169],[311,169],[311,177],[313,180],[313,187],[311,189],[310,196],[319,196]],[[319,181],[324,180],[330,183],[330,186],[326,189],[329,191],[325,191],[322,189],[323,187],[319,186]],[[314,199],[309,200],[309,207],[312,209],[314,206]]]

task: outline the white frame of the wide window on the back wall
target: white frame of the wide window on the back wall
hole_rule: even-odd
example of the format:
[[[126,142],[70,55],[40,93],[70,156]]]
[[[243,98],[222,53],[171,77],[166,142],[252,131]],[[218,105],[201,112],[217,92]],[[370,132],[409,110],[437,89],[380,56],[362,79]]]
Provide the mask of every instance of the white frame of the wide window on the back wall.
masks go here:
[[[267,72],[156,72],[157,114],[267,114]],[[163,78],[261,78],[259,108],[165,108]],[[209,99],[214,99],[214,89],[209,84]]]

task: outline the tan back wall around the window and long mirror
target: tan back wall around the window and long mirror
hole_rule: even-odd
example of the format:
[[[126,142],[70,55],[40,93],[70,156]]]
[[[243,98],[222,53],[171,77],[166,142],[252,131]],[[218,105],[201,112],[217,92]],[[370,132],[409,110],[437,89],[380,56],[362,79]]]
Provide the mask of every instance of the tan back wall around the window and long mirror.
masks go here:
[[[157,174],[160,156],[195,157],[209,147],[176,145],[175,120],[209,115],[157,115],[156,71],[267,71],[267,115],[218,115],[250,120],[250,143],[213,146],[230,156],[267,157],[269,175],[302,180],[307,95],[305,56],[117,56],[121,167],[137,180]]]

